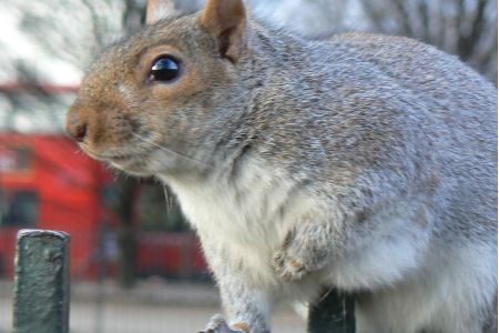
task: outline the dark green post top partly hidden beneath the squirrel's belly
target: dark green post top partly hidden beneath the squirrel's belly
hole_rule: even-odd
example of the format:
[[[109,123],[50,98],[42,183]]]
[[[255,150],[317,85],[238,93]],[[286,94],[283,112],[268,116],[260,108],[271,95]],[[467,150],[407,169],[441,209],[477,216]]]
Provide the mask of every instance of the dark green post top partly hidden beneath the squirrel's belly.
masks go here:
[[[355,301],[338,290],[326,291],[316,304],[310,304],[308,333],[355,333]]]

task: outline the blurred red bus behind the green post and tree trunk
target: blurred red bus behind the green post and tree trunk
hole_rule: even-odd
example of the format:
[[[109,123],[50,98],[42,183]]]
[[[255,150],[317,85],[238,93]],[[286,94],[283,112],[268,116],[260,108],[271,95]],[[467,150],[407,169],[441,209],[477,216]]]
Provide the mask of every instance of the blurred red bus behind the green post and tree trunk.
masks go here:
[[[16,235],[27,228],[71,234],[73,276],[95,279],[103,254],[106,272],[112,273],[118,261],[119,218],[103,199],[112,188],[113,175],[105,167],[63,135],[0,133],[0,276],[12,276]],[[147,231],[141,226],[142,219],[136,220],[140,275],[205,272],[191,232]]]

